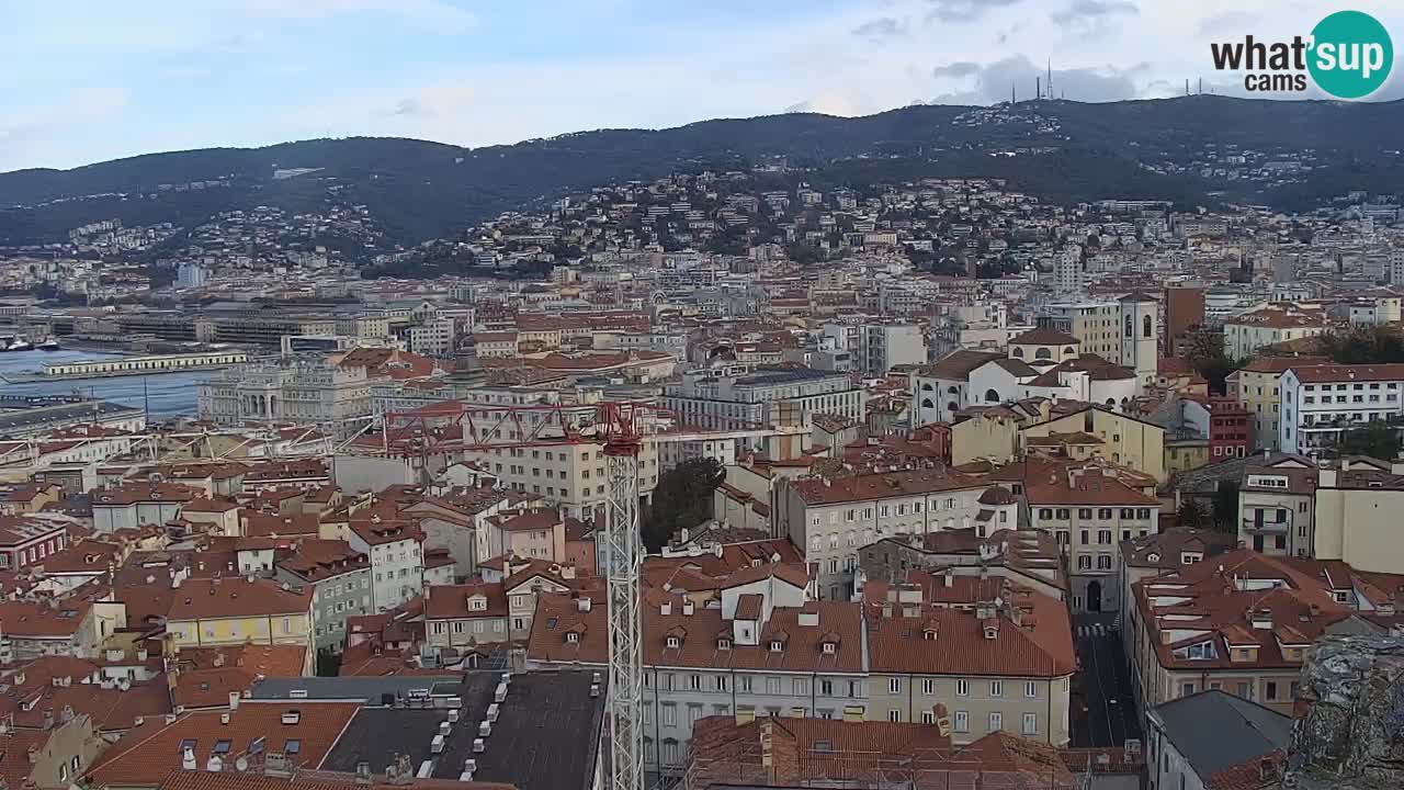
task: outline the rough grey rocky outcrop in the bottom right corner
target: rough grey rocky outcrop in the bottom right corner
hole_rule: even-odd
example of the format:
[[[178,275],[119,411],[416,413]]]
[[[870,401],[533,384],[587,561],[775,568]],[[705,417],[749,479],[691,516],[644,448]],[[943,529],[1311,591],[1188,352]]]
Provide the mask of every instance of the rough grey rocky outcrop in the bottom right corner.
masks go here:
[[[1283,787],[1404,787],[1404,635],[1320,642],[1300,699]]]

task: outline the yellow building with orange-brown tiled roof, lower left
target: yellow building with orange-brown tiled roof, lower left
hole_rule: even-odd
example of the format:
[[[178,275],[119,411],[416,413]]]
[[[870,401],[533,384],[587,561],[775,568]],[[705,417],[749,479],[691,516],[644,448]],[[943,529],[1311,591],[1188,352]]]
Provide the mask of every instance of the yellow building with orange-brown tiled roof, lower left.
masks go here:
[[[171,590],[166,631],[178,648],[296,645],[314,658],[312,588],[260,578],[184,579]]]

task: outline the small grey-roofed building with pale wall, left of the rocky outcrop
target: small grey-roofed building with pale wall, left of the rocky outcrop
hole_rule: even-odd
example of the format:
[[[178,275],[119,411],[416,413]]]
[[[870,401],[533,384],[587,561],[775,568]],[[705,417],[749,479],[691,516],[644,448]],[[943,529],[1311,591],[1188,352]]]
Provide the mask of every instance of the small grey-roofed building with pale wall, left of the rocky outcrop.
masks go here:
[[[1171,700],[1146,713],[1150,786],[1163,790],[1275,786],[1276,763],[1286,755],[1290,739],[1292,718],[1221,690]]]

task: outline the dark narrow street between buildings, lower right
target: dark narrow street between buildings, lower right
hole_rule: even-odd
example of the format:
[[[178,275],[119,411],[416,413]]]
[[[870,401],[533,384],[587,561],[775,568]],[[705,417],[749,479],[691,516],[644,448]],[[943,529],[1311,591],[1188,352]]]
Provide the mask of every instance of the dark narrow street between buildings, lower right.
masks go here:
[[[1140,738],[1130,666],[1115,614],[1074,614],[1078,673],[1073,679],[1073,745],[1120,746]]]

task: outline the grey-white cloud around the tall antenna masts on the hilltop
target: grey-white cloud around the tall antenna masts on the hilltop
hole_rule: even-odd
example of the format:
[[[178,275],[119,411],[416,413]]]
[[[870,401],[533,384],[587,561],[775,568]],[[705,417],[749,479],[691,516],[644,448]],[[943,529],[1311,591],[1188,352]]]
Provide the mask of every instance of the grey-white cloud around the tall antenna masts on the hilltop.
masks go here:
[[[972,66],[974,66],[972,69]],[[948,70],[959,72],[963,77],[974,76],[974,87],[969,90],[945,93],[931,100],[932,104],[994,104],[1009,97],[1011,89],[1016,89],[1019,96],[1033,96],[1035,80],[1047,79],[1047,70],[1035,66],[1028,58],[1016,55],[995,60],[986,66],[974,63],[949,63],[936,66],[932,73],[936,76]],[[1063,69],[1053,70],[1053,90],[1057,96],[1066,96],[1075,101],[1123,101],[1137,98],[1140,91],[1136,87],[1133,75],[1143,70],[1143,65],[1130,69]],[[1047,90],[1047,86],[1043,86]]]

